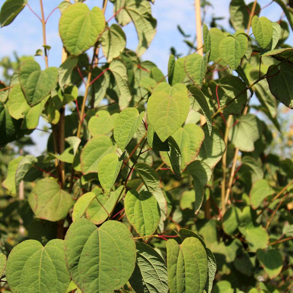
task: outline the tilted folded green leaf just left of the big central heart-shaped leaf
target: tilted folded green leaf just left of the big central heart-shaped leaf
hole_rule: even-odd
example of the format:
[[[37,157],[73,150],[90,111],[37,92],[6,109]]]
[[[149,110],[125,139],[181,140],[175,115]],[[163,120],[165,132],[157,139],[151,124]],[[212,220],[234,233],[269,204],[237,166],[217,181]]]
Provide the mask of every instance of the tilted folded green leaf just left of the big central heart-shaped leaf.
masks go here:
[[[114,139],[122,151],[129,144],[143,117],[144,111],[139,114],[137,108],[126,108],[119,113],[114,123]]]

